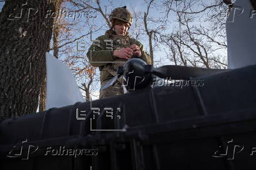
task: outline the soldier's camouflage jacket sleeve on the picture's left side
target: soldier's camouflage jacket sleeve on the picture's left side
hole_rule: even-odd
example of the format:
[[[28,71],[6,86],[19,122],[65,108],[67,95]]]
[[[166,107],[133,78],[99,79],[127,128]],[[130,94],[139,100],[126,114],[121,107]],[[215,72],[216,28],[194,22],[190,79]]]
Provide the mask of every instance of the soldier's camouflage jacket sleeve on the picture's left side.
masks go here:
[[[93,44],[89,47],[86,56],[89,59],[89,62],[94,67],[104,66],[109,62],[114,61],[114,57],[112,56],[113,51],[108,50],[105,47],[105,43],[103,38],[96,38],[99,40],[98,42],[93,42]]]

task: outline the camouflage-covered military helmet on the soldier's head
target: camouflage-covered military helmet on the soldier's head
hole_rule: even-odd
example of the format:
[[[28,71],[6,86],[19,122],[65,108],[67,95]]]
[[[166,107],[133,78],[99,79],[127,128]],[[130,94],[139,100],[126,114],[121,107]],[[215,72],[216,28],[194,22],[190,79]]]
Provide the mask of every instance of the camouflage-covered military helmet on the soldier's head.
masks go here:
[[[128,22],[130,25],[132,25],[133,16],[132,13],[126,9],[126,6],[123,6],[114,9],[110,14],[109,19],[110,21],[112,21],[112,19],[119,19],[120,21]]]

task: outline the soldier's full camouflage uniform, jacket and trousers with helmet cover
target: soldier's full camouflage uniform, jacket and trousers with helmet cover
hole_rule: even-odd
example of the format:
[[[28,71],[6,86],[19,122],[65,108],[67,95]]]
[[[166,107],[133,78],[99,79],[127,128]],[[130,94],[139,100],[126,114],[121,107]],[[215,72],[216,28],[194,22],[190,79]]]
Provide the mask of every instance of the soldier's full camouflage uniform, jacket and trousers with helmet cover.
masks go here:
[[[120,8],[114,9],[114,11]],[[113,12],[114,12],[113,11]],[[126,9],[127,11],[127,9]],[[113,13],[112,12],[112,13]],[[129,12],[129,11],[128,11]],[[119,13],[120,14],[120,13]],[[127,17],[127,16],[126,16]],[[119,19],[120,16],[117,15]],[[111,19],[111,15],[110,15]],[[120,21],[127,21],[119,19]],[[129,23],[132,23],[129,21]],[[144,50],[142,43],[136,39],[130,38],[129,34],[126,35],[116,35],[116,33],[109,29],[106,31],[105,35],[99,36],[94,40],[92,46],[90,46],[87,57],[90,61],[90,64],[94,67],[99,67],[100,70],[100,85],[107,83],[110,79],[116,76],[117,66],[123,66],[125,59],[119,59],[113,56],[113,50],[119,49],[121,47],[130,47],[135,44],[140,47],[140,52],[142,52],[141,59],[143,59],[147,64],[151,64],[150,56]],[[132,56],[136,57],[136,56]],[[113,63],[118,62],[118,63]],[[106,98],[113,95],[123,94],[122,80],[119,79],[113,86],[107,87],[106,89],[100,90],[99,98]]]

